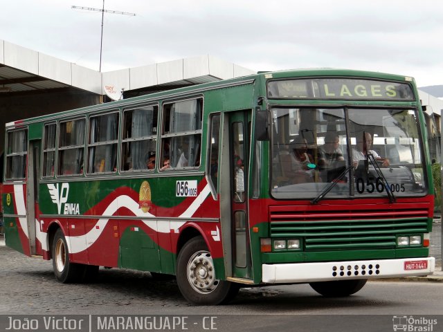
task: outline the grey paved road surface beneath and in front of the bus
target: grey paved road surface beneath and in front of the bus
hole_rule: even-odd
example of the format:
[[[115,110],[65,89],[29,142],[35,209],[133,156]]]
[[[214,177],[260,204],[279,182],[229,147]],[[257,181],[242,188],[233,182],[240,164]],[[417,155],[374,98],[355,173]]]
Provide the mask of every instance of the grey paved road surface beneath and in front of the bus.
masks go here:
[[[52,261],[0,246],[0,331],[4,315],[170,315],[190,317],[188,331],[204,331],[208,317],[205,327],[214,320],[217,331],[242,332],[392,331],[394,316],[413,315],[437,319],[434,332],[443,331],[442,299],[442,283],[424,279],[368,282],[345,298],[321,297],[309,285],[244,288],[228,305],[191,306],[174,281],[150,273],[101,268],[96,283],[60,284]]]

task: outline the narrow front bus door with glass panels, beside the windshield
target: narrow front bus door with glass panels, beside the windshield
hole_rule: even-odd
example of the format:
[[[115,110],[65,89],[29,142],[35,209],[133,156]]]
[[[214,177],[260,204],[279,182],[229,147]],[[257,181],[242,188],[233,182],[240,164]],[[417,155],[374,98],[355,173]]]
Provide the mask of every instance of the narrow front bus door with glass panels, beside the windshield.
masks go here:
[[[230,206],[233,245],[233,277],[251,277],[248,227],[248,166],[251,111],[229,116]]]

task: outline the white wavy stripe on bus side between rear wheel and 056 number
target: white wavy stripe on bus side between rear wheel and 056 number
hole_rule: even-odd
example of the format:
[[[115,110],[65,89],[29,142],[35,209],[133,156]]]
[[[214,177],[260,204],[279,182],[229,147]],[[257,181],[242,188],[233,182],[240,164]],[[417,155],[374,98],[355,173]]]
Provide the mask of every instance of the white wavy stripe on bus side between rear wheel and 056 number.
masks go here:
[[[201,203],[204,202],[206,199],[206,196],[210,193],[210,187],[208,184],[206,184],[206,187],[204,187],[203,190],[201,190],[199,196],[195,198],[195,200],[189,205],[188,209],[186,209],[185,212],[183,212],[179,218],[190,218],[197,209],[200,207]],[[143,212],[141,208],[139,207],[138,203],[134,201],[131,197],[127,195],[118,196],[114,201],[112,201],[107,209],[103,212],[102,215],[114,215],[114,213],[117,212],[119,208],[127,208],[130,210],[135,216],[143,217],[150,217],[155,218],[154,214],[151,214],[149,212]],[[105,229],[105,226],[107,225],[109,219],[98,219],[98,222],[96,225],[93,226],[93,228],[87,232],[87,234],[79,235],[78,237],[66,237],[66,242],[68,244],[69,252],[75,254],[77,252],[81,252],[83,250],[86,250],[90,246],[93,245],[100,237],[100,234],[102,234],[103,230]],[[156,232],[161,233],[169,233],[171,230],[174,230],[174,232],[177,232],[178,229],[186,223],[186,220],[183,221],[174,221],[170,223],[170,226],[168,228],[165,228],[165,222],[161,222],[161,227],[159,228],[157,225],[156,220],[150,220],[150,219],[142,219],[143,223],[147,225],[149,228]]]

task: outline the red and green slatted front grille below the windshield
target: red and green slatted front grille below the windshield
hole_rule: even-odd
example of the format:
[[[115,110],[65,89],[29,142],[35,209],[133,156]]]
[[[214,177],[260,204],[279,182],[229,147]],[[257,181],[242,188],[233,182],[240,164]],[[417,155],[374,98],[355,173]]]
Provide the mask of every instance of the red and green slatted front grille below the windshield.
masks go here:
[[[421,234],[428,225],[425,209],[334,212],[269,208],[271,237],[301,237],[306,251],[395,248],[398,235]]]

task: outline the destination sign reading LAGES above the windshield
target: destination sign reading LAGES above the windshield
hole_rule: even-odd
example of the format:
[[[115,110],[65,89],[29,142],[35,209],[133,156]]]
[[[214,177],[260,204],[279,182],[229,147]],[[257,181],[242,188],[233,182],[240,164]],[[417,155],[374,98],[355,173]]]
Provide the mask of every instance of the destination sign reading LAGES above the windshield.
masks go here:
[[[414,100],[407,83],[356,78],[310,78],[268,82],[271,99]]]

